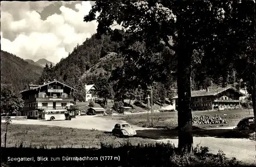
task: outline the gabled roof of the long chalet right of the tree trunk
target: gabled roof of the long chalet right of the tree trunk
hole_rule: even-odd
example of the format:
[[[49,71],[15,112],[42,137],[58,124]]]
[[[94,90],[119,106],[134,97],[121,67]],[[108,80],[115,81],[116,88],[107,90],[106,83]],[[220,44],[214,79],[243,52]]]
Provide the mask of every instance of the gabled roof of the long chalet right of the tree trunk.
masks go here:
[[[233,87],[219,87],[219,88],[215,88],[215,89],[208,89],[208,91],[204,90],[195,90],[195,91],[191,91],[191,97],[201,97],[201,96],[216,96],[217,94],[227,90],[227,89],[232,89],[236,92],[238,92],[241,95],[245,95],[244,93],[238,91],[237,89],[234,89]],[[174,98],[172,99],[178,99],[178,95],[176,95]]]

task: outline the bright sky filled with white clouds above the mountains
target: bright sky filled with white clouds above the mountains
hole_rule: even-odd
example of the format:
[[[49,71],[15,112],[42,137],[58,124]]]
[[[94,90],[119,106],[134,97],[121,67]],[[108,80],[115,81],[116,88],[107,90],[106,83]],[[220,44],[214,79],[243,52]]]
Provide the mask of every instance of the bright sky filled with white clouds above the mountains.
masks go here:
[[[93,2],[1,1],[1,50],[23,59],[57,63],[96,33],[84,22]]]

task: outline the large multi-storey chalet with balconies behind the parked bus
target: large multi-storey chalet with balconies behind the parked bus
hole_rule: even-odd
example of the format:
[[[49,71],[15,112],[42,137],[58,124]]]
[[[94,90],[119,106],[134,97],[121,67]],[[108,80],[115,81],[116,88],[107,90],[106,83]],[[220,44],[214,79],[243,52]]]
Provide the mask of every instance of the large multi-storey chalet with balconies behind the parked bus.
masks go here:
[[[44,82],[43,85],[29,84],[28,90],[20,92],[24,108],[18,115],[28,118],[41,118],[42,111],[48,109],[70,109],[74,104],[73,92],[76,89],[59,81]]]

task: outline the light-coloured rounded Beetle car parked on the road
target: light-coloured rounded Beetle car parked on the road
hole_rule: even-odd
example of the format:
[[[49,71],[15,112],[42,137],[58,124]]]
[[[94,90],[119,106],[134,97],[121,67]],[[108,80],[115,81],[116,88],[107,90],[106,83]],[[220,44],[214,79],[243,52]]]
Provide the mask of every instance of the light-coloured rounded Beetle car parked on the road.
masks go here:
[[[112,130],[112,134],[122,137],[137,135],[137,132],[129,124],[116,124]]]

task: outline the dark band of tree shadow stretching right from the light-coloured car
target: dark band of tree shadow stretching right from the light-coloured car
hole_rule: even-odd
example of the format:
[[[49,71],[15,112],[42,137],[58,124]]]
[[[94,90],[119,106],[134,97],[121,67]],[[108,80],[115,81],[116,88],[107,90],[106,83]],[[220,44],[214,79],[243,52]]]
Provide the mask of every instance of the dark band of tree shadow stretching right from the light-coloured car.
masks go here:
[[[137,137],[151,138],[151,139],[164,139],[178,138],[178,129],[147,129],[137,130]],[[218,137],[218,138],[249,138],[252,131],[238,131],[233,129],[201,129],[193,127],[193,136],[196,137]]]

